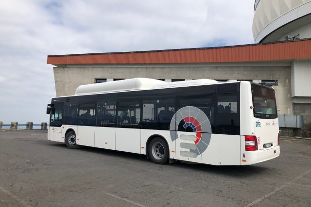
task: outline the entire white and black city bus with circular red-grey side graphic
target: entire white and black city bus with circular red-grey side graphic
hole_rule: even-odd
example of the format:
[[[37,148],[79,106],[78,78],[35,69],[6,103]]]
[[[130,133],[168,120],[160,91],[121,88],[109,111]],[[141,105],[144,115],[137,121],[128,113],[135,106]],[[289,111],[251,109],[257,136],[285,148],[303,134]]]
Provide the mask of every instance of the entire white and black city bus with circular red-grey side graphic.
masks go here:
[[[183,160],[250,165],[279,156],[273,88],[248,81],[137,78],[79,86],[52,98],[48,139]]]

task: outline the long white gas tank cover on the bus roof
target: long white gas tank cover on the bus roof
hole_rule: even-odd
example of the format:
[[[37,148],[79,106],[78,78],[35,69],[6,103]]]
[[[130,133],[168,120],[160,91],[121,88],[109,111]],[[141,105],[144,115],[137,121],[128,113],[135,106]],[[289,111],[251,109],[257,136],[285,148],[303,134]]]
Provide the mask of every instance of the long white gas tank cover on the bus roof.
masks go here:
[[[75,95],[99,94],[117,91],[148,90],[157,88],[159,89],[172,88],[172,87],[182,87],[191,85],[194,86],[194,85],[215,84],[215,83],[217,83],[216,80],[209,80],[209,79],[165,82],[156,79],[135,78],[135,79],[126,79],[104,83],[81,85],[76,89]]]

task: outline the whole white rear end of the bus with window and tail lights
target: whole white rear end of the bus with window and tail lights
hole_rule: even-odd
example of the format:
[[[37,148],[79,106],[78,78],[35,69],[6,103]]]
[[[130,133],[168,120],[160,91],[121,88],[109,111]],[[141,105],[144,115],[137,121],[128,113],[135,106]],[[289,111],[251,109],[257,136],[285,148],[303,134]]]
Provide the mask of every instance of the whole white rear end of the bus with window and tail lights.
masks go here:
[[[241,82],[241,165],[280,154],[276,97],[273,88]]]

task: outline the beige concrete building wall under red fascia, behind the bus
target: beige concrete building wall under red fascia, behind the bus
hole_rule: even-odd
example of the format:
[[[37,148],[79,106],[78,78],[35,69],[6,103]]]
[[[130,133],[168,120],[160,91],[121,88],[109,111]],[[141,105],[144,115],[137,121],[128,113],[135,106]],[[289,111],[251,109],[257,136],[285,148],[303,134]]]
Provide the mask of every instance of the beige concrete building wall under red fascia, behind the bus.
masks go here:
[[[278,80],[276,102],[280,114],[292,114],[291,66],[256,64],[180,64],[180,65],[89,65],[54,67],[56,96],[74,95],[79,85],[104,79],[215,79],[215,80]],[[285,66],[284,66],[285,65]]]

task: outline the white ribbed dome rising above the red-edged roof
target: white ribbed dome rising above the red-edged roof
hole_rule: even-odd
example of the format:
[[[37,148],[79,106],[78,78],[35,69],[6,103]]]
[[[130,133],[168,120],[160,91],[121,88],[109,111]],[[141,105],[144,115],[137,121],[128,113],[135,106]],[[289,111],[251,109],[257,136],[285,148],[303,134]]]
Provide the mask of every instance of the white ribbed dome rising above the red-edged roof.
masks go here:
[[[311,38],[311,0],[255,0],[255,43]]]

